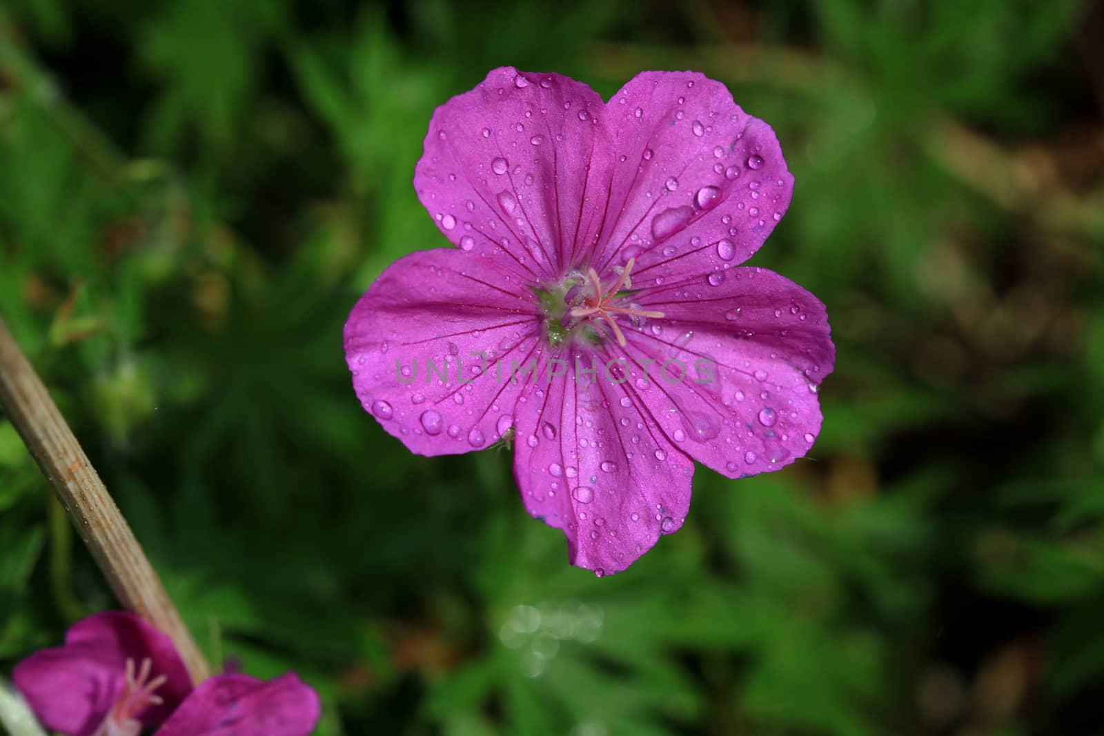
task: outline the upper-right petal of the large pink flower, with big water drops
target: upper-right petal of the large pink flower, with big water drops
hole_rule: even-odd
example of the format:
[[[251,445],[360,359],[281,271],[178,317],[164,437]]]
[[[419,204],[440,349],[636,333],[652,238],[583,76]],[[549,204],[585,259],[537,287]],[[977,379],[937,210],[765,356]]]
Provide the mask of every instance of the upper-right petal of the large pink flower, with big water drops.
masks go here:
[[[634,281],[746,260],[789,206],[794,178],[774,131],[693,72],[644,72],[607,108],[616,140],[597,264],[635,256]],[[602,269],[599,268],[599,271]]]

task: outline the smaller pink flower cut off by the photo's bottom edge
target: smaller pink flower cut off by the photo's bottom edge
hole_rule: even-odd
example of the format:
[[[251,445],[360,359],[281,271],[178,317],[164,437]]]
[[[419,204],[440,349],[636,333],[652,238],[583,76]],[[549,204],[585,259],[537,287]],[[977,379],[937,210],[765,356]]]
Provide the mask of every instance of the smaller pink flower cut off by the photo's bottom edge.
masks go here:
[[[305,736],[319,701],[295,674],[272,682],[222,674],[192,690],[172,641],[142,619],[106,611],[65,646],[20,662],[12,680],[35,716],[67,736]]]

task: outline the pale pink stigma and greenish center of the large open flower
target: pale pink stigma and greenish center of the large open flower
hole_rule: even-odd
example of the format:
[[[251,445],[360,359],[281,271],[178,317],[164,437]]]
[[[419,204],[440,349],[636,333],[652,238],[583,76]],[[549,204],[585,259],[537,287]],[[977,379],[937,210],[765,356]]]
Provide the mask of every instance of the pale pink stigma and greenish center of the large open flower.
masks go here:
[[[627,317],[639,326],[645,319],[659,319],[664,312],[641,309],[633,303],[631,274],[635,258],[629,258],[625,268],[617,274],[614,282],[604,286],[593,267],[586,274],[575,271],[553,292],[540,291],[545,307],[545,332],[553,345],[563,342],[569,334],[581,332],[592,342],[601,341],[604,332],[613,333],[617,344],[625,346],[625,333],[617,323],[618,317]],[[569,286],[570,284],[570,286]]]

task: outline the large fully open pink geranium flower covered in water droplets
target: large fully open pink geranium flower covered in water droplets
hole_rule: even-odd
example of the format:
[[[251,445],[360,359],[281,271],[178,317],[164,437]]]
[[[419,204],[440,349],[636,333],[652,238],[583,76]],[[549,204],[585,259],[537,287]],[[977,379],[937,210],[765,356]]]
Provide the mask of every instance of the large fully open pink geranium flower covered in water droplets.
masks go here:
[[[777,470],[820,429],[824,305],[740,266],[793,182],[771,127],[701,74],[603,103],[495,70],[429,122],[414,186],[457,248],[401,258],[357,303],[357,395],[414,452],[512,441],[571,562],[625,569],[682,524],[693,460]]]

